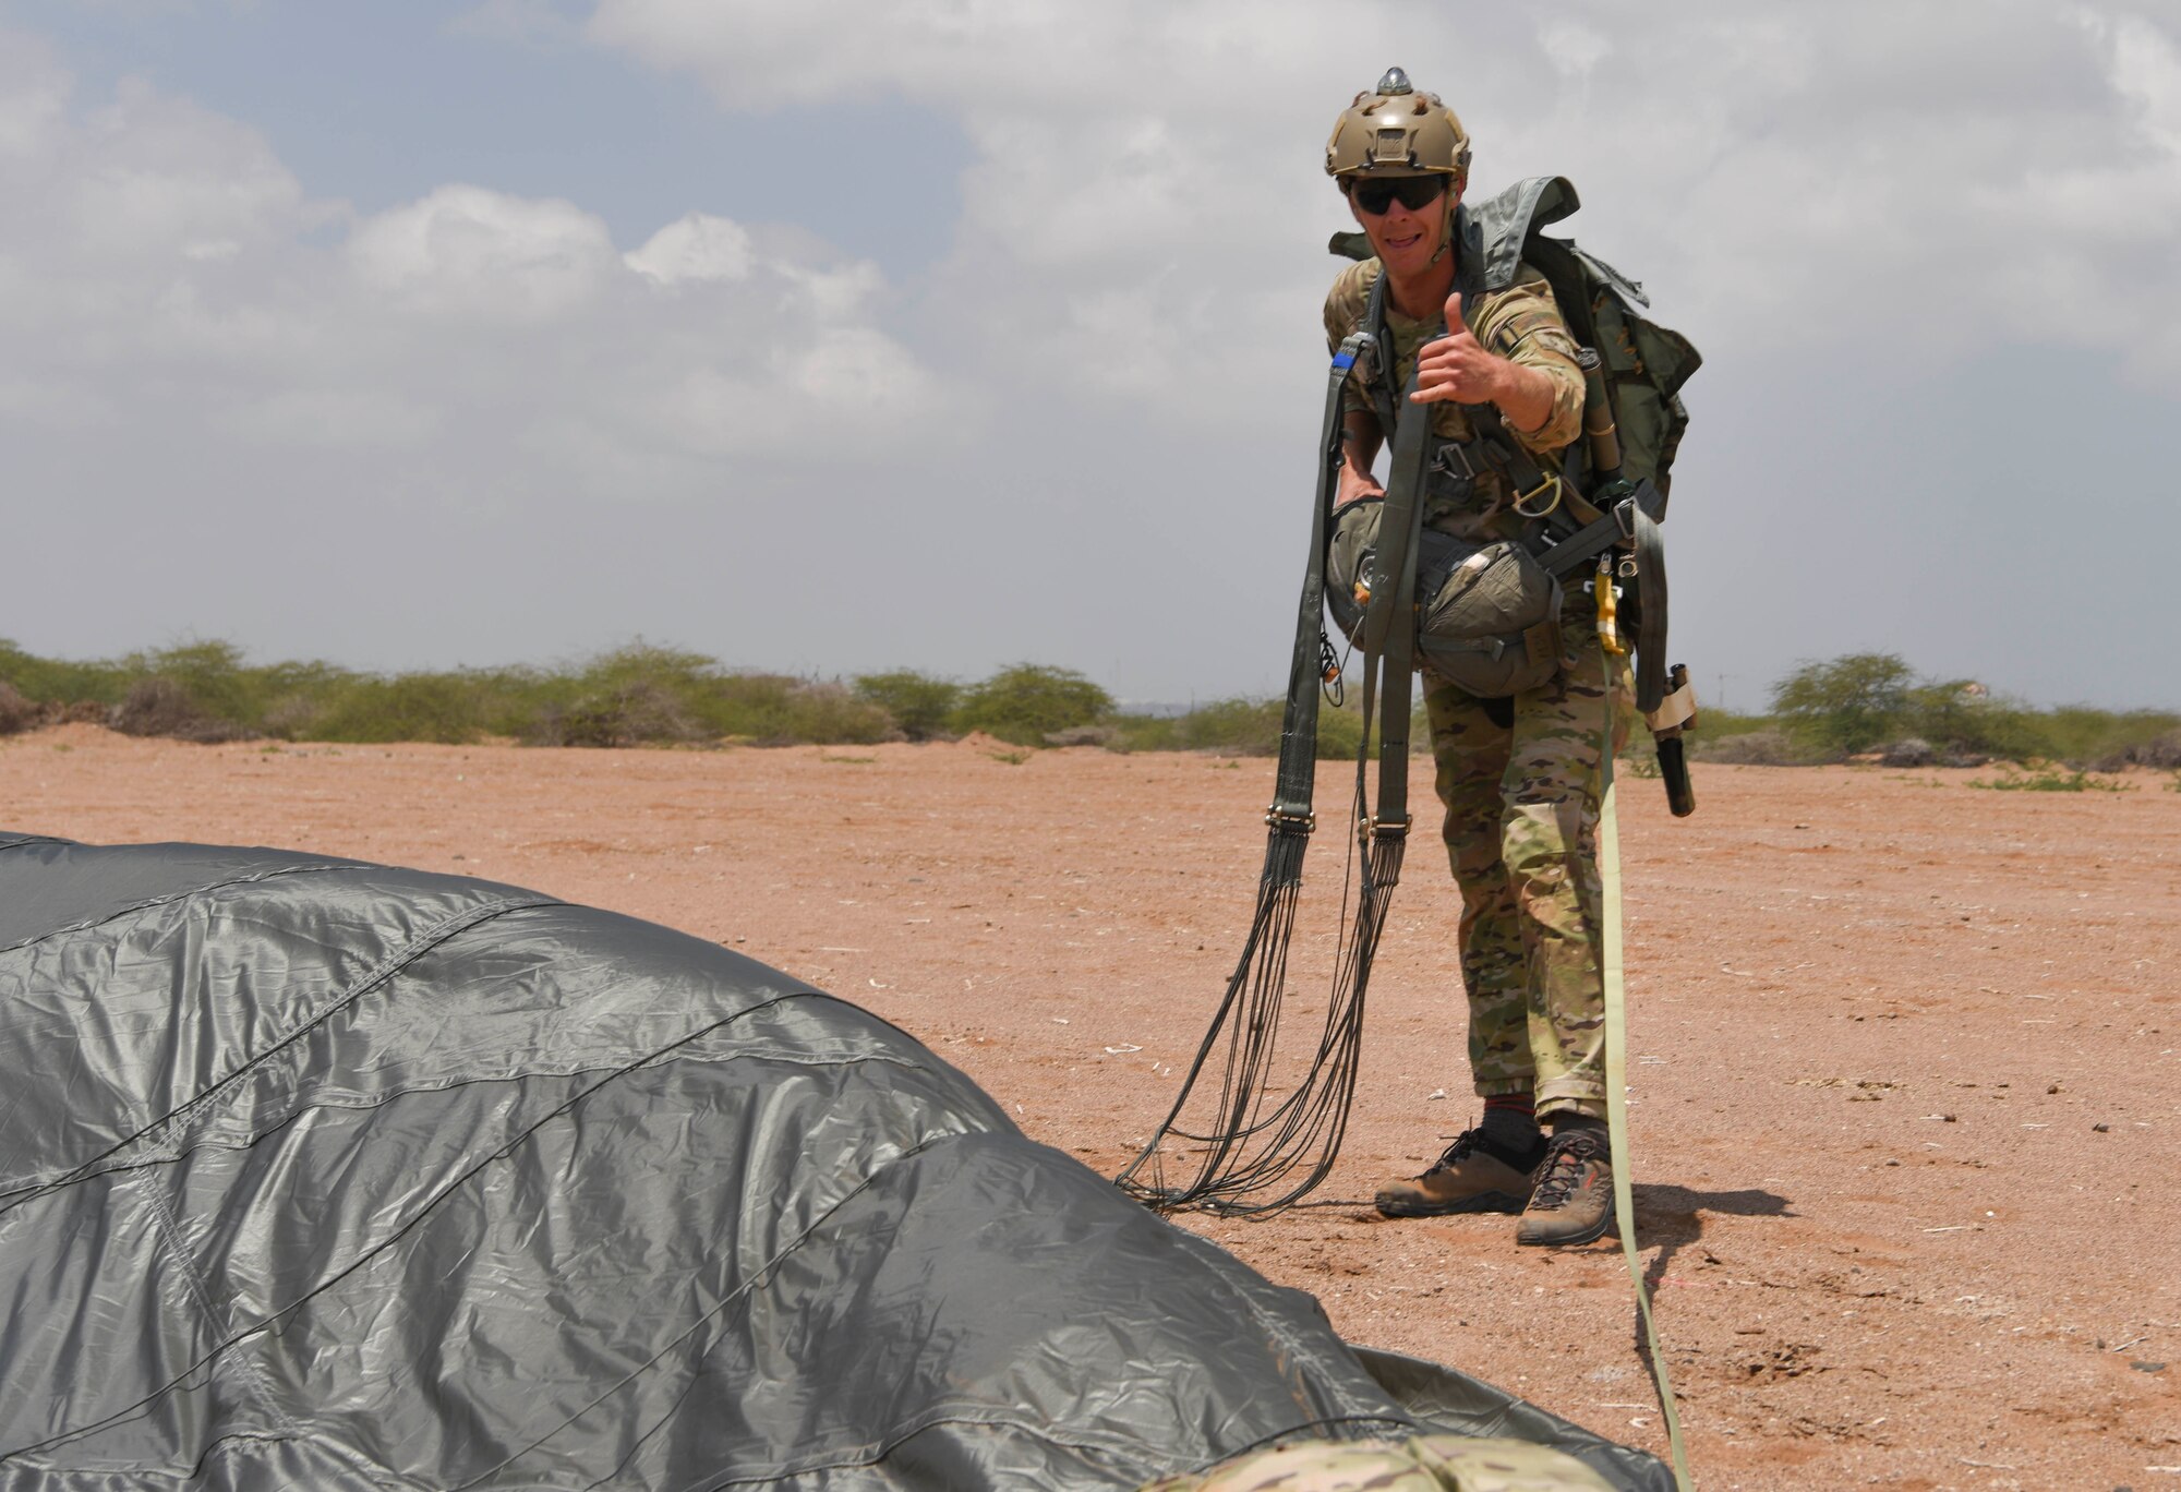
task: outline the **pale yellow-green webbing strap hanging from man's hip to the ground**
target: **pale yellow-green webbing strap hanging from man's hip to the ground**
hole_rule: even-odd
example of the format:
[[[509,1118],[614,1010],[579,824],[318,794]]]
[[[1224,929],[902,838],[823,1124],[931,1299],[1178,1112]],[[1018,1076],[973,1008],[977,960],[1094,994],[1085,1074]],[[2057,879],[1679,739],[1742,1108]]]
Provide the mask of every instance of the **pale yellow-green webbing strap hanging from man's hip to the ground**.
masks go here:
[[[1651,1320],[1651,1291],[1642,1283],[1642,1254],[1636,1252],[1636,1187],[1629,1180],[1629,1014],[1627,979],[1620,951],[1620,814],[1614,805],[1614,659],[1627,657],[1614,609],[1612,561],[1599,565],[1599,665],[1605,683],[1605,731],[1599,742],[1599,923],[1603,931],[1601,973],[1605,977],[1605,1139],[1614,1163],[1614,1219],[1620,1228],[1620,1256],[1636,1287],[1636,1313],[1642,1315],[1644,1346],[1651,1352],[1651,1379],[1658,1383],[1658,1407],[1666,1420],[1666,1448],[1673,1455],[1673,1485],[1690,1490],[1688,1448],[1682,1444],[1682,1416],[1666,1376],[1666,1352]]]

